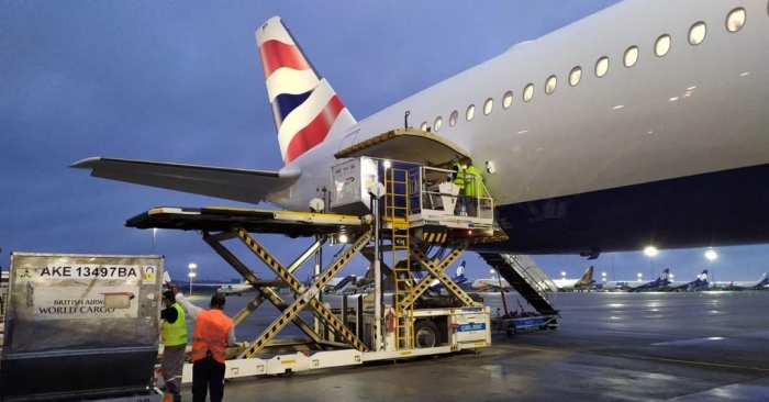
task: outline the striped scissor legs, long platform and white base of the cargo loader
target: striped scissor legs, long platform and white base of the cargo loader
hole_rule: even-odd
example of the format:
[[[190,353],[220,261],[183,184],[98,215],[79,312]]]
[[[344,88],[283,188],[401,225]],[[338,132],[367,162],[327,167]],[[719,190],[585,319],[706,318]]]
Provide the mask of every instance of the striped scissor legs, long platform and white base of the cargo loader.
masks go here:
[[[345,325],[345,314],[337,317],[321,300],[323,287],[334,277],[352,257],[361,252],[366,245],[375,239],[372,215],[363,217],[337,214],[302,213],[288,211],[270,211],[257,209],[233,208],[156,208],[136,215],[126,221],[125,225],[137,228],[176,228],[186,231],[199,231],[203,241],[211,246],[227,264],[241,273],[257,290],[258,294],[233,321],[235,325],[242,323],[248,315],[265,302],[275,305],[281,313],[261,334],[241,351],[236,359],[227,360],[226,378],[280,375],[292,371],[309,370],[315,368],[328,368],[349,366],[379,359],[393,359],[414,357],[420,355],[435,355],[450,353],[462,348],[477,348],[491,344],[489,309],[475,303],[459,287],[454,283],[443,271],[456,258],[461,255],[468,245],[468,239],[457,239],[453,236],[438,236],[447,242],[455,242],[456,246],[443,260],[431,260],[416,246],[406,247],[410,257],[424,267],[430,273],[421,282],[413,286],[413,291],[404,295],[393,297],[393,306],[386,305],[378,322],[375,317],[365,319],[366,327],[372,334],[368,342],[360,339],[360,333],[356,334]],[[294,277],[294,272],[309,258],[321,249],[330,237],[344,232],[354,239],[350,248],[341,257],[328,264],[320,272],[315,272],[309,283],[302,283]],[[252,233],[283,234],[290,237],[312,237],[315,242],[308,247],[294,261],[283,266],[274,257]],[[387,233],[387,231],[382,231]],[[241,239],[261,261],[264,261],[278,277],[276,280],[263,280],[257,277],[243,261],[241,261],[223,242]],[[393,247],[397,242],[390,239]],[[367,258],[370,257],[370,254]],[[383,269],[390,272],[392,269]],[[427,289],[430,283],[438,279],[446,289],[460,300],[462,306],[450,309],[428,309],[425,311],[413,310],[414,301]],[[277,282],[282,282],[296,294],[296,300],[288,302],[278,292]],[[413,281],[412,281],[413,283]],[[411,306],[409,325],[403,324],[404,309]],[[311,310],[315,316],[314,325],[305,323],[299,312]],[[397,336],[405,334],[410,339],[414,337],[413,322],[419,317],[447,316],[448,339],[431,348],[417,348],[411,342],[404,343]],[[360,317],[361,315],[359,315]],[[384,323],[387,316],[395,316],[395,328],[388,327]],[[313,353],[304,346],[300,351],[289,355],[269,355],[271,347],[285,348],[287,345],[271,342],[275,336],[289,322],[293,322],[313,344]],[[322,322],[325,331],[320,331],[319,322]],[[364,327],[358,323],[358,327]],[[399,325],[404,325],[399,330]],[[328,338],[322,334],[333,332],[334,337]],[[375,342],[380,337],[379,342]],[[378,349],[377,349],[377,345]],[[336,350],[332,350],[332,349]],[[281,350],[282,351],[282,350]],[[191,381],[191,367],[183,371],[182,381]]]

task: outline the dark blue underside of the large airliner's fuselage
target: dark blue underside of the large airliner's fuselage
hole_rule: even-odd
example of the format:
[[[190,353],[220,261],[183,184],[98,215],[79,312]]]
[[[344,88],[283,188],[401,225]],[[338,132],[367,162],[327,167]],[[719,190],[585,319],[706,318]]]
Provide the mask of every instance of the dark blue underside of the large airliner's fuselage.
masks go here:
[[[766,200],[769,165],[503,204],[497,215],[510,239],[472,249],[570,254],[769,243]]]

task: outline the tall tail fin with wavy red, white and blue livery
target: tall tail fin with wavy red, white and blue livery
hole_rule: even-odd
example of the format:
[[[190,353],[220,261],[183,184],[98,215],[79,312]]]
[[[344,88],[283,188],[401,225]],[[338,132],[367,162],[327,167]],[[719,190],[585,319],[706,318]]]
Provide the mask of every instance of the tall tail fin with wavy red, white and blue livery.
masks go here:
[[[321,77],[279,16],[256,31],[267,94],[283,164],[289,164],[355,119]]]

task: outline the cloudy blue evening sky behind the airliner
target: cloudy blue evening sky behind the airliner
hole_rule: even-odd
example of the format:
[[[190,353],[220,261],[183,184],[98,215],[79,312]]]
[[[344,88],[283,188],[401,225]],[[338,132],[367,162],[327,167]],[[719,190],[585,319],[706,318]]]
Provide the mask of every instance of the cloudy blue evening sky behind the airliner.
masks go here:
[[[158,205],[252,205],[96,179],[68,166],[109,156],[279,169],[254,38],[272,15],[360,121],[614,2],[3,1],[0,266],[8,268],[10,252],[155,253],[175,278],[186,277],[190,261],[201,279],[236,277],[197,233],[154,235],[123,223]],[[309,244],[258,238],[285,265]],[[551,277],[577,278],[594,265],[598,280],[602,271],[609,280],[650,279],[664,268],[690,280],[709,266],[718,281],[753,280],[768,270],[766,246],[716,248],[713,263],[705,249],[661,250],[653,260],[642,252],[535,260]],[[464,259],[468,276],[489,276],[475,254]],[[254,258],[246,263],[267,271]],[[358,258],[345,272],[365,268]],[[303,268],[300,279],[308,273]]]

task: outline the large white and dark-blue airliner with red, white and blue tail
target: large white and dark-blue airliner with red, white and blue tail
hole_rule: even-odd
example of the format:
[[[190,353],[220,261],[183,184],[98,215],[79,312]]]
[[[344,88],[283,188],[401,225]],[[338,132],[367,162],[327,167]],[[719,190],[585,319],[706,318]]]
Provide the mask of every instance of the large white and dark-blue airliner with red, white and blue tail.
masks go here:
[[[625,0],[357,121],[275,16],[256,42],[281,168],[112,157],[71,167],[304,211],[330,182],[335,153],[411,119],[484,168],[509,239],[470,250],[595,258],[650,242],[668,249],[765,244],[767,37],[762,0]],[[377,155],[436,165],[455,156],[426,147],[406,139]]]

